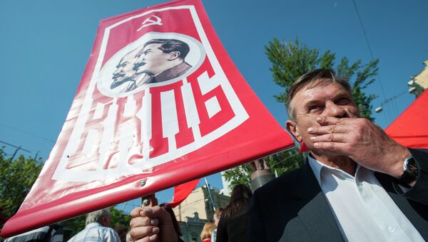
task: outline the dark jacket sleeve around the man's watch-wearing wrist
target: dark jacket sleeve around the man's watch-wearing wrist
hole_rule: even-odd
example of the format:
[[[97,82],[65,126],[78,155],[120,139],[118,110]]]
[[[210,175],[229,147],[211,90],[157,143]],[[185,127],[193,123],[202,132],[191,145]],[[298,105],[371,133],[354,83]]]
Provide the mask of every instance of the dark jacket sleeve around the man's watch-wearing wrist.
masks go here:
[[[416,183],[407,191],[402,191],[398,183],[393,183],[395,190],[402,196],[417,203],[428,205],[428,149],[409,148],[419,170]]]

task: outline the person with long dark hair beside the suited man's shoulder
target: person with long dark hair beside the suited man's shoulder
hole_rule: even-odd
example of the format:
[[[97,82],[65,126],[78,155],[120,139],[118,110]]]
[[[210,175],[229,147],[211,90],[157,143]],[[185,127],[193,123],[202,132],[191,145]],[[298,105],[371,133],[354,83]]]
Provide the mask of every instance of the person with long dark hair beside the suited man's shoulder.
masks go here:
[[[233,188],[228,206],[221,213],[216,242],[248,241],[248,218],[253,193],[248,186]]]

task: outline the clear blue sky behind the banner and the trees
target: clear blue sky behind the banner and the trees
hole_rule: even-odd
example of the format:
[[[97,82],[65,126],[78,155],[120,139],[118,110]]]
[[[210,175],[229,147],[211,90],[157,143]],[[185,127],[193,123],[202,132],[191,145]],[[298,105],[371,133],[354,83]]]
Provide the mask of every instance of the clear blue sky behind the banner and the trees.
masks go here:
[[[76,93],[98,22],[162,2],[0,1],[0,141],[31,151],[19,154],[39,152],[46,160]],[[281,89],[272,81],[265,56],[269,41],[298,36],[311,48],[330,49],[337,59],[347,56],[367,63],[372,58],[351,0],[204,0],[203,4],[230,58],[282,126],[287,116],[272,97]],[[379,126],[386,128],[414,101],[406,92],[407,81],[428,59],[428,1],[355,0],[355,4],[372,54],[380,60],[377,81],[367,92],[378,96],[374,107],[390,100],[382,113],[374,114]],[[11,155],[15,148],[6,146],[5,151]],[[208,181],[220,188],[218,175]],[[161,201],[170,198],[170,193],[161,193]]]

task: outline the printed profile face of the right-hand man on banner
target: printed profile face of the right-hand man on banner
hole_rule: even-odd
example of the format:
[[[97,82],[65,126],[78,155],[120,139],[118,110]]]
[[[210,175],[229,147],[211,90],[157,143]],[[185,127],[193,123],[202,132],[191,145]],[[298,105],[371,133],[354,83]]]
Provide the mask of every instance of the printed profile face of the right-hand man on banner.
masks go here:
[[[137,74],[149,74],[154,76],[165,69],[165,64],[170,59],[170,54],[164,53],[159,47],[162,44],[148,44],[138,56],[134,66]]]

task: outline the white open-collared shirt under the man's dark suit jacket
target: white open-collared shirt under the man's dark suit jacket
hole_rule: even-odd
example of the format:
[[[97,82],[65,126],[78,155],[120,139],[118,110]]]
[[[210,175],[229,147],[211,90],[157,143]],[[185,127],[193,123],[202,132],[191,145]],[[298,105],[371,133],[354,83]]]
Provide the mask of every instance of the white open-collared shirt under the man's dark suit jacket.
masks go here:
[[[308,159],[345,241],[424,241],[374,171],[357,165],[352,176]]]

